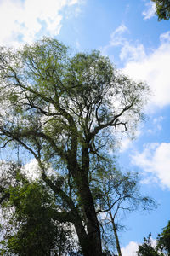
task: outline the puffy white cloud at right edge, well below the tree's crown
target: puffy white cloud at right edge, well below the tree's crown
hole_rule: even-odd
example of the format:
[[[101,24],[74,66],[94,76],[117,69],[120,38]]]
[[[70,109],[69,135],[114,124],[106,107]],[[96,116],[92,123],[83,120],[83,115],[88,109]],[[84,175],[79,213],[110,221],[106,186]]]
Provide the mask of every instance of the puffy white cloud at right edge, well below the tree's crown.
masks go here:
[[[163,187],[170,189],[170,143],[150,143],[144,146],[142,153],[132,156],[133,165],[139,166],[144,172],[150,172],[154,179]],[[149,179],[146,179],[148,182]],[[144,181],[144,183],[146,182]]]

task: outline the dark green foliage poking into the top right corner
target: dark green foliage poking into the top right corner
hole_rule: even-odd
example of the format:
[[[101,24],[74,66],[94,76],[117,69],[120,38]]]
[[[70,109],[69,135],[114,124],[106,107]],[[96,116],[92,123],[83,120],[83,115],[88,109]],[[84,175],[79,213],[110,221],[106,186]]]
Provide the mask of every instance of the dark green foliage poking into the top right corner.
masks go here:
[[[170,1],[169,0],[151,0],[156,3],[156,15],[158,20],[169,20],[170,18]]]

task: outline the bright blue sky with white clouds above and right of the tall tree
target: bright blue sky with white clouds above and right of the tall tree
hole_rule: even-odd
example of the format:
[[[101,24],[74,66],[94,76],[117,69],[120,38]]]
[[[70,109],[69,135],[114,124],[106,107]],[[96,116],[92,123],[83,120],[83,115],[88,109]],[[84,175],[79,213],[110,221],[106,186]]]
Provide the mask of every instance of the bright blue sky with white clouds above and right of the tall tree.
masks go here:
[[[150,86],[145,121],[136,139],[122,137],[119,163],[139,172],[141,191],[158,203],[152,212],[123,219],[123,256],[135,256],[151,232],[153,241],[170,219],[170,21],[158,21],[150,0],[0,0],[0,45],[19,47],[42,36],[73,51],[99,49],[136,81]]]

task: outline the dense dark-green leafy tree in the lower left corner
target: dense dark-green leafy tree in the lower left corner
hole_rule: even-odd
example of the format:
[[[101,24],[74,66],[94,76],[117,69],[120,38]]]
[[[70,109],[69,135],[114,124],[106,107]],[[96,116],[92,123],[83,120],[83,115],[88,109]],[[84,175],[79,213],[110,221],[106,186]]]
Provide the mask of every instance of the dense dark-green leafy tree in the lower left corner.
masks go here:
[[[8,218],[1,227],[0,255],[29,256],[36,252],[48,256],[71,252],[71,227],[54,219],[54,212],[58,212],[54,193],[42,181],[30,182],[21,173],[21,166],[11,163],[9,168],[13,182],[1,180],[3,216]]]

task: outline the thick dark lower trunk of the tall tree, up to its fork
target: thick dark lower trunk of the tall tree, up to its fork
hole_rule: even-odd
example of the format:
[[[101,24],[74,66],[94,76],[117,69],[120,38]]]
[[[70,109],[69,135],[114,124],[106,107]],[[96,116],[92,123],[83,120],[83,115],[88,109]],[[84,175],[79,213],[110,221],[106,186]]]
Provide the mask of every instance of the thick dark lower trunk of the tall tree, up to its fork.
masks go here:
[[[82,147],[82,167],[77,163],[77,155],[73,154],[71,151],[71,154],[68,157],[68,170],[71,172],[71,175],[77,184],[78,195],[82,205],[82,214],[84,214],[85,217],[85,219],[82,218],[82,222],[85,221],[85,224],[87,224],[86,248],[84,248],[83,245],[82,253],[84,256],[102,256],[99,221],[95,212],[94,199],[88,183],[88,144],[83,145]],[[78,236],[80,240],[81,235]]]

